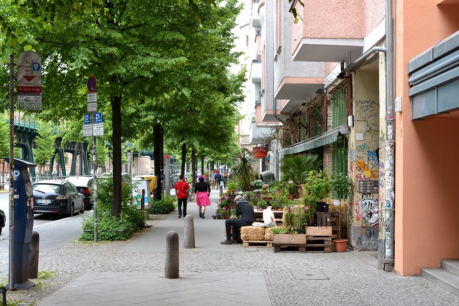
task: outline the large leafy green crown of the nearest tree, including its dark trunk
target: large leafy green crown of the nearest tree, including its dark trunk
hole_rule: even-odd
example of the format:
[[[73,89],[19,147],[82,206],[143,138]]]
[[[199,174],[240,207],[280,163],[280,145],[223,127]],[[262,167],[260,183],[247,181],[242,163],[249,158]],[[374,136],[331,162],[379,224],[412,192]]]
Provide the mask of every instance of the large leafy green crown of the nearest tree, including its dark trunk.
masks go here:
[[[98,111],[103,113],[105,134],[111,135],[113,147],[113,215],[121,211],[122,141],[139,135],[150,138],[152,124],[180,123],[193,113],[206,113],[213,121],[196,116],[186,122],[189,127],[215,134],[188,140],[190,148],[199,151],[217,140],[232,141],[232,137],[224,136],[228,131],[231,134],[234,125],[214,128],[212,122],[234,121],[234,102],[241,96],[234,94],[238,82],[232,81],[226,70],[238,57],[231,52],[231,29],[240,9],[235,0],[215,6],[208,0],[82,1],[75,10],[72,0],[43,7],[38,0],[18,0],[12,6],[7,0],[0,3],[7,15],[13,16],[9,20],[14,19],[17,33],[27,38],[22,42],[18,39],[14,47],[0,42],[2,61],[7,63],[7,54],[17,54],[29,44],[40,54],[46,71],[43,98],[47,102],[41,116],[62,122],[64,139],[82,139],[86,82],[90,75],[96,77]],[[28,18],[30,14],[47,19]],[[3,42],[7,41],[12,43],[10,38]],[[147,105],[141,108],[139,104]],[[7,103],[3,105],[6,108]],[[158,109],[165,112],[152,113]],[[135,120],[127,124],[126,118],[132,116]],[[153,120],[143,119],[147,117]]]

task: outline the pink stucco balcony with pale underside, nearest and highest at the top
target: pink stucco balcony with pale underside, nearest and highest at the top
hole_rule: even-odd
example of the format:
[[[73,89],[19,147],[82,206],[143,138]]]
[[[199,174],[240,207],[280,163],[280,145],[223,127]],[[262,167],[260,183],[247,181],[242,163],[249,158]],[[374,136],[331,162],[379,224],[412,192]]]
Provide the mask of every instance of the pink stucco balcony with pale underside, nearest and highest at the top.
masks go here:
[[[386,15],[384,1],[363,6],[361,0],[309,0],[304,8],[297,2],[294,7],[303,19],[292,29],[294,61],[352,63]]]

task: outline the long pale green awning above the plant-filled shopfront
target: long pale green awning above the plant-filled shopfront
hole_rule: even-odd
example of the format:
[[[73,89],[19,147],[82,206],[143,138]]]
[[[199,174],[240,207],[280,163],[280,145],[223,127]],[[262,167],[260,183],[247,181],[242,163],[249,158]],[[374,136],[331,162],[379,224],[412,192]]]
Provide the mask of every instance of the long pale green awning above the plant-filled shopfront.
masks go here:
[[[308,140],[302,141],[300,143],[294,144],[290,147],[287,147],[283,150],[279,150],[279,155],[289,155],[308,151],[314,148],[322,147],[331,143],[334,143],[338,140],[340,135],[349,134],[349,128],[346,125],[341,125],[333,130],[330,130],[322,135],[312,137]]]

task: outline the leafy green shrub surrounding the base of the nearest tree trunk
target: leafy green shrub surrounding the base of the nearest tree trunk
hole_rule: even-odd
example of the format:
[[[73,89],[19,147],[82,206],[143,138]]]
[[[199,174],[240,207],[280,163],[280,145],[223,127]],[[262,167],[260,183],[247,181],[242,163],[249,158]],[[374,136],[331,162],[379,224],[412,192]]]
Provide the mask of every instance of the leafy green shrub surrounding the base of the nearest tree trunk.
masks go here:
[[[137,209],[132,197],[133,185],[121,185],[121,214],[112,216],[112,177],[102,177],[97,180],[97,239],[126,240],[145,226],[145,216]],[[94,239],[94,216],[84,216],[82,221],[83,233],[80,240]]]

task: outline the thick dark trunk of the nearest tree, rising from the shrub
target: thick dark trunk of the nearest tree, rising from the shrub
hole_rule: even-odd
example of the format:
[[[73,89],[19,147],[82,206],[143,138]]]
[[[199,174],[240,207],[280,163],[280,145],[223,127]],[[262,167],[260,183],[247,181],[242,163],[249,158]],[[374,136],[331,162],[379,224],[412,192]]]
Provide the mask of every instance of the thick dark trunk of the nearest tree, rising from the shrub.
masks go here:
[[[121,213],[121,95],[112,97],[113,198],[112,215]]]

